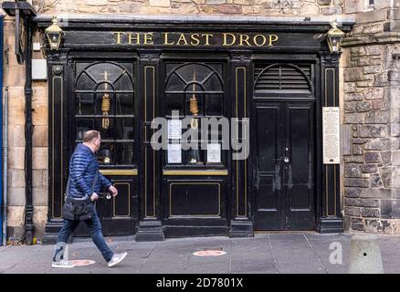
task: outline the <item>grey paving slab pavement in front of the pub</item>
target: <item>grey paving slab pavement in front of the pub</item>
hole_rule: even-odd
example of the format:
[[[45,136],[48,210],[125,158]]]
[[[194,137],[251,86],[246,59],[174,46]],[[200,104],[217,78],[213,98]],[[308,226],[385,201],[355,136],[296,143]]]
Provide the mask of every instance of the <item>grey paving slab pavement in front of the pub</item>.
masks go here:
[[[54,245],[0,246],[0,274],[347,274],[351,235],[316,233],[256,234],[249,238],[189,237],[163,242],[108,238],[111,249],[127,251],[121,265],[109,268],[85,238],[68,245],[69,259],[90,259],[91,266],[51,268]],[[378,235],[384,272],[400,273],[400,236]],[[342,264],[332,263],[332,246],[342,248]],[[196,256],[217,249],[225,255]]]

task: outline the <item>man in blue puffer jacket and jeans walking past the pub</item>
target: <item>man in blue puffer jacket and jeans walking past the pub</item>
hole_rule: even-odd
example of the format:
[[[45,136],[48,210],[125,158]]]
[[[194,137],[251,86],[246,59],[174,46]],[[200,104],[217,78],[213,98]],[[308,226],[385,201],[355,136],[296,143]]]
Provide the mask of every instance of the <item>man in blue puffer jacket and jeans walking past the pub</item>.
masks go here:
[[[83,135],[83,143],[77,146],[70,159],[67,198],[63,208],[64,225],[58,233],[52,267],[74,267],[63,258],[63,255],[68,237],[75,231],[80,221],[87,224],[89,234],[108,266],[115,266],[127,255],[127,253],[114,254],[111,251],[101,233],[99,217],[94,207],[101,188],[110,190],[113,196],[118,194],[112,183],[99,172],[96,152],[100,149],[100,142],[100,132],[88,130]]]

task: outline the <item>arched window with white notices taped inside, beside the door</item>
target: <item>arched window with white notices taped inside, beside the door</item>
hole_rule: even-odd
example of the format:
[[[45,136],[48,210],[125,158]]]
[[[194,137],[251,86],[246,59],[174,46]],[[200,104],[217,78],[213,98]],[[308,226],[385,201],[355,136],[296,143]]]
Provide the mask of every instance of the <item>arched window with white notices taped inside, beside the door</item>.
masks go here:
[[[201,118],[222,118],[224,116],[223,65],[220,63],[168,63],[165,80],[165,116],[173,119],[174,112],[179,119],[190,118],[187,129],[198,130],[198,149],[181,149],[181,134],[187,129],[169,137],[169,148],[165,162],[171,166],[222,165],[222,133],[209,130],[208,141],[201,135]],[[175,117],[174,117],[175,118]],[[174,120],[171,122],[174,123]],[[176,125],[175,125],[176,126]],[[210,141],[214,134],[217,141]],[[177,143],[172,145],[173,143]],[[202,147],[207,144],[206,147]]]

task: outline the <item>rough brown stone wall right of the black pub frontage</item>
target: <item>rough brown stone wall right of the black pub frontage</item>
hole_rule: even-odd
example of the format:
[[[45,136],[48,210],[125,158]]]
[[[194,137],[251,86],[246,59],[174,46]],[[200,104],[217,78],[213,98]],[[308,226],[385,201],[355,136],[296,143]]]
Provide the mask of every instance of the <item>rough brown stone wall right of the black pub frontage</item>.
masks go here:
[[[344,219],[352,232],[400,233],[400,44],[395,1],[347,1],[356,25],[344,50]],[[348,5],[351,4],[351,5]],[[392,5],[392,6],[391,6]]]

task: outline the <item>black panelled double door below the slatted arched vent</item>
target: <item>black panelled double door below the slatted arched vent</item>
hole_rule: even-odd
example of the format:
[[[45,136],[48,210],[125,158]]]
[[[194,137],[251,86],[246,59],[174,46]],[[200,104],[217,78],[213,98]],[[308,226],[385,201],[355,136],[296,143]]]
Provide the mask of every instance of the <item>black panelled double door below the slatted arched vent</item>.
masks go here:
[[[255,102],[252,109],[256,230],[315,227],[313,102]]]

